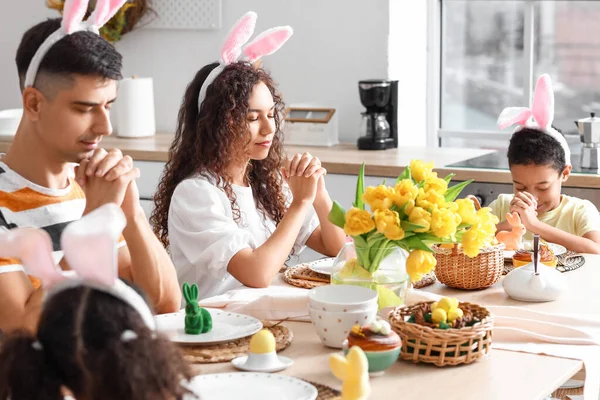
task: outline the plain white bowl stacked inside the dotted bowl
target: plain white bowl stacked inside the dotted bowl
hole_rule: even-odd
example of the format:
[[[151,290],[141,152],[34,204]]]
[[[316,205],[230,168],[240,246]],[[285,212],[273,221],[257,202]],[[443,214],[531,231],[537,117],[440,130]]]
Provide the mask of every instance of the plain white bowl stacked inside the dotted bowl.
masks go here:
[[[308,292],[308,306],[329,312],[366,310],[377,306],[377,292],[356,285],[325,285]]]

